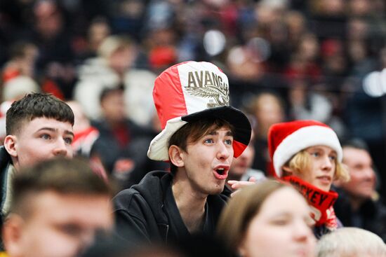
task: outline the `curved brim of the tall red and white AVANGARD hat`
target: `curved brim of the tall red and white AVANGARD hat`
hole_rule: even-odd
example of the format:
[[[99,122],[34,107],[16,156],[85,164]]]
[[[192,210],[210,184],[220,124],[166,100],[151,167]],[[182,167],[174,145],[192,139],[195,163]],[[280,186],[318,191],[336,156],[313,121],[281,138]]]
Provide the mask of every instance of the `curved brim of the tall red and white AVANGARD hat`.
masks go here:
[[[251,123],[240,110],[232,106],[220,106],[168,120],[164,130],[157,134],[150,142],[147,156],[151,160],[169,160],[168,141],[171,136],[186,123],[202,118],[221,118],[227,120],[234,127],[234,157],[237,158],[243,153],[251,140]]]

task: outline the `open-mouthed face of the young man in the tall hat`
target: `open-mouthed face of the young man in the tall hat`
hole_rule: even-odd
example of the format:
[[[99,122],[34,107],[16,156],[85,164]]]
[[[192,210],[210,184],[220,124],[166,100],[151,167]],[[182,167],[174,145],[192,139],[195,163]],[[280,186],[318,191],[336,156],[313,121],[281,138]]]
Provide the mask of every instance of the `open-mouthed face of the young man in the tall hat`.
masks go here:
[[[187,140],[182,160],[190,186],[204,195],[221,193],[233,160],[231,130],[220,127],[194,143]]]

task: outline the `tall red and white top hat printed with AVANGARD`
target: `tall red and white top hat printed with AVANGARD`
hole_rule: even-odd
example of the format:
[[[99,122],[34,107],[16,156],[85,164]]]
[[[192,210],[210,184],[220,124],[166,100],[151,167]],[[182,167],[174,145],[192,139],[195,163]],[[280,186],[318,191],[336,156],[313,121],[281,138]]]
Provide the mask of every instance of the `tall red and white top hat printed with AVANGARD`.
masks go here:
[[[234,157],[251,139],[251,123],[229,106],[227,76],[210,62],[182,62],[163,71],[154,82],[154,104],[162,131],[150,142],[147,156],[169,160],[168,141],[183,125],[202,118],[222,118],[234,126]]]

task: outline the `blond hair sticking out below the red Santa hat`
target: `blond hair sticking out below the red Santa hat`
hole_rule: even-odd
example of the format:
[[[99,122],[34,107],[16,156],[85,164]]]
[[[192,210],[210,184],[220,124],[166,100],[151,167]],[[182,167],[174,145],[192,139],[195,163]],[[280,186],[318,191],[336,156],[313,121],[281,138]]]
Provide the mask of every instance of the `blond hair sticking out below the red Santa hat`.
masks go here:
[[[289,160],[286,165],[295,172],[303,172],[311,167],[310,155],[304,150],[293,155],[293,158]],[[284,171],[283,174],[286,172]],[[340,161],[335,160],[335,177],[334,179],[347,182],[350,180],[350,173],[347,167]]]

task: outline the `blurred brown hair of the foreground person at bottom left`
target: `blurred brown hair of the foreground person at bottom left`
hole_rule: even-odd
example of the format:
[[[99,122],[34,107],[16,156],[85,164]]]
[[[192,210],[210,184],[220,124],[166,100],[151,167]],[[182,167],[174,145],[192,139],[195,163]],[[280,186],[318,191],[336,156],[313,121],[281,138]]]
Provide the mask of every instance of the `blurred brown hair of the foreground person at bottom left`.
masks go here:
[[[114,190],[95,174],[86,158],[52,158],[17,172],[12,181],[11,213],[27,216],[34,195],[54,191],[62,195],[107,195]]]

